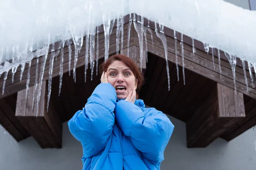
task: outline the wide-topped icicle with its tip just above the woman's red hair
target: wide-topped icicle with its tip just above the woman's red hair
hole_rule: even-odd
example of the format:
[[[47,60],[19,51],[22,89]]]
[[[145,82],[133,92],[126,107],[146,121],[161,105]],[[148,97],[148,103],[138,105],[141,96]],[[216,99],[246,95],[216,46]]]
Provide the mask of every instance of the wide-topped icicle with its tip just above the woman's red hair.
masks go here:
[[[104,35],[105,35],[105,61],[108,59],[109,38],[112,33],[114,23],[115,23],[115,20],[111,20],[111,18],[103,14],[103,27],[104,27]]]

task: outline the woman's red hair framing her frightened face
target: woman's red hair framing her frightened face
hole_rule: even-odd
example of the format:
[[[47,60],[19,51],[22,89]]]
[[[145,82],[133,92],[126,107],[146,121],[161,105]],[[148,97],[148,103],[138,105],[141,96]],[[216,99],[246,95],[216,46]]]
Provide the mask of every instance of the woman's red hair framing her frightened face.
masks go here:
[[[108,60],[105,61],[104,63],[102,63],[100,66],[101,74],[102,74],[102,72],[106,72],[108,70],[108,67],[114,61],[121,61],[131,69],[132,73],[134,74],[135,78],[137,79],[136,91],[138,92],[138,90],[144,83],[144,78],[142,76],[142,73],[140,72],[140,69],[137,67],[136,63],[131,58],[129,58],[125,55],[117,54],[117,55],[113,55],[113,56],[109,57]],[[136,94],[136,97],[138,98],[139,96]]]

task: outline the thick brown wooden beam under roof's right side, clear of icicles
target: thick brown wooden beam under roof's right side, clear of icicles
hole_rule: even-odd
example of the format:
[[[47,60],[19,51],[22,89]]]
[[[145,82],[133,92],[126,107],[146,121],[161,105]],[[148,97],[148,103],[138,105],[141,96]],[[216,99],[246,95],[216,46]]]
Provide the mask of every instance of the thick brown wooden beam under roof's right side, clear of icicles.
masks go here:
[[[187,147],[207,147],[245,117],[243,94],[216,84],[211,95],[186,122]]]

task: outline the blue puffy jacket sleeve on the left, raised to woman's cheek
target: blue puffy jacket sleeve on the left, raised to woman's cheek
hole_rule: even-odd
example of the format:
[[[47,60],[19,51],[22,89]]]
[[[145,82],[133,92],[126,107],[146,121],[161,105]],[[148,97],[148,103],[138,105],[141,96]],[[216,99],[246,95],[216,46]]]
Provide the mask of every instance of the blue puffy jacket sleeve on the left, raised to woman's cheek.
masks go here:
[[[115,105],[115,89],[111,84],[101,83],[88,98],[84,108],[68,121],[70,132],[81,141],[85,158],[104,149],[112,133]]]

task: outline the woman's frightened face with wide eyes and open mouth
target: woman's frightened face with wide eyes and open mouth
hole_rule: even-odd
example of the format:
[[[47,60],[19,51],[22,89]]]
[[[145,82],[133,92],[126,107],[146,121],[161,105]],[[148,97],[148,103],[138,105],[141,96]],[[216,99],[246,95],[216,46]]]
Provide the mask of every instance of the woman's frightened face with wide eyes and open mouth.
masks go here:
[[[108,82],[116,89],[118,99],[127,98],[129,92],[137,88],[137,79],[131,69],[122,61],[114,61],[108,66]]]

